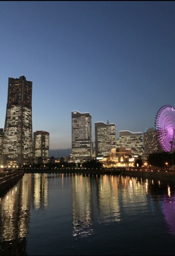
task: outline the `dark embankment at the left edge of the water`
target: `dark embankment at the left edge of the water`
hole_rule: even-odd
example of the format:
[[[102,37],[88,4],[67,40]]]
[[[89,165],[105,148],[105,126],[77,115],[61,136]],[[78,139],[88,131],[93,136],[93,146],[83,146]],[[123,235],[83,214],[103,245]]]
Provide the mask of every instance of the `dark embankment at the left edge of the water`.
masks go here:
[[[0,178],[0,195],[6,193],[23,175],[23,171],[17,171]]]

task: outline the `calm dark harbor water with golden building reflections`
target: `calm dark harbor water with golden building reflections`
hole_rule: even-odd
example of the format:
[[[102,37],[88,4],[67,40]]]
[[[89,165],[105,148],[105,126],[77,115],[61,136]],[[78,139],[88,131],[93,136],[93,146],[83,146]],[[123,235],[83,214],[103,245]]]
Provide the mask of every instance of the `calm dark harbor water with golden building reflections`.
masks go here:
[[[174,255],[175,184],[28,173],[0,199],[0,255]]]

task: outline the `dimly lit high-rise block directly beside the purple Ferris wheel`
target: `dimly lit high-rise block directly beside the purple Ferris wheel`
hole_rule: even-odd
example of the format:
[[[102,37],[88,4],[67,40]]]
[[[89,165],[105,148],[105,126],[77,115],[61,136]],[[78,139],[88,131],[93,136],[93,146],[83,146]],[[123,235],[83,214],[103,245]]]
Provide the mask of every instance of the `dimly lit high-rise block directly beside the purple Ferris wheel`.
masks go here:
[[[161,145],[157,139],[156,127],[147,128],[143,133],[145,156],[162,152]]]

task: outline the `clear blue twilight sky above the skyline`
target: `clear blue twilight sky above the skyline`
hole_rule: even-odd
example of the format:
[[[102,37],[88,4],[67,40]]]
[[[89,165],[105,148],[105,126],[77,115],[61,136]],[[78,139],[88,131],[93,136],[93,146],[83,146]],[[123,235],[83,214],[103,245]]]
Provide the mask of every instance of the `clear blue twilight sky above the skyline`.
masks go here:
[[[71,148],[71,111],[144,132],[175,106],[175,2],[0,1],[0,128],[8,77],[33,82],[33,132]]]

